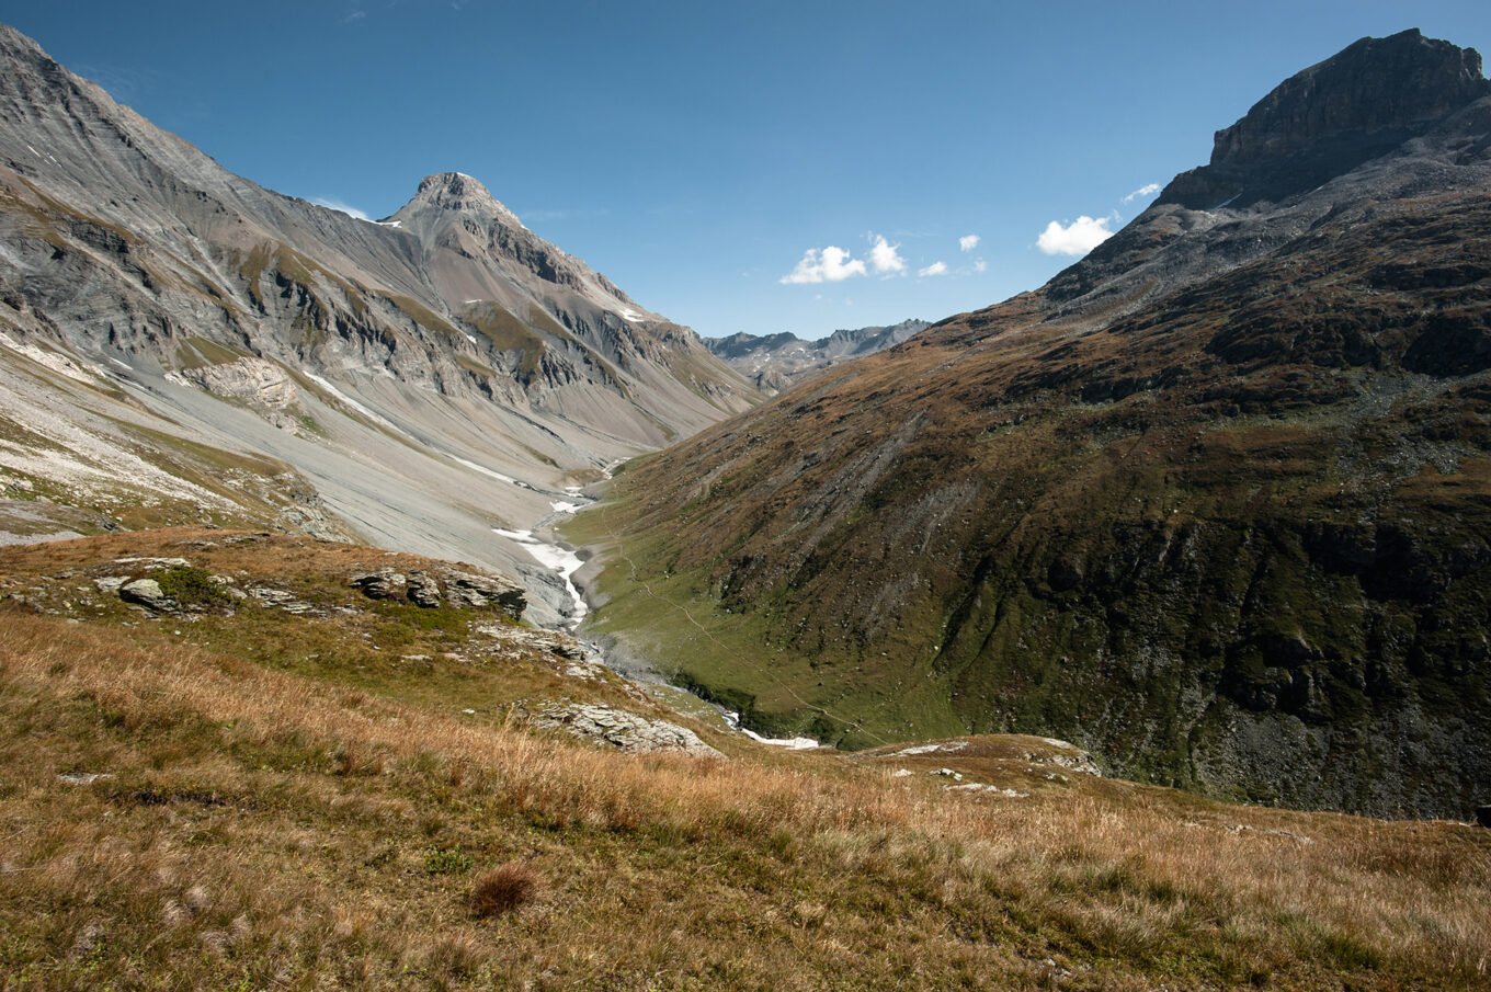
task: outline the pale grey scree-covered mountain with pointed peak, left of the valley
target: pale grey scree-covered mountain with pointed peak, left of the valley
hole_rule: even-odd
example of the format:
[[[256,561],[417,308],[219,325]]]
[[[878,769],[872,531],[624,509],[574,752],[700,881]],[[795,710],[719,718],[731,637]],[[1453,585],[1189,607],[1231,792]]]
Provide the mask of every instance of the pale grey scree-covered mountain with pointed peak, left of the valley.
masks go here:
[[[0,531],[356,536],[520,571],[553,619],[492,528],[759,398],[471,176],[377,222],[285,197],[7,27],[0,119]]]

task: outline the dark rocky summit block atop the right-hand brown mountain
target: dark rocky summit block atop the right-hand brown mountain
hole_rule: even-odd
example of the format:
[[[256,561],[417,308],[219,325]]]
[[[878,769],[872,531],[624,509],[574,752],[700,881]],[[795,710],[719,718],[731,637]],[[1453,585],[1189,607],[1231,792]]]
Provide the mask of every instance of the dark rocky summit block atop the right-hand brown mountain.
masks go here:
[[[1481,54],[1418,28],[1364,37],[1290,76],[1232,127],[1211,164],[1176,176],[1160,203],[1209,210],[1279,201],[1384,155],[1491,95]]]

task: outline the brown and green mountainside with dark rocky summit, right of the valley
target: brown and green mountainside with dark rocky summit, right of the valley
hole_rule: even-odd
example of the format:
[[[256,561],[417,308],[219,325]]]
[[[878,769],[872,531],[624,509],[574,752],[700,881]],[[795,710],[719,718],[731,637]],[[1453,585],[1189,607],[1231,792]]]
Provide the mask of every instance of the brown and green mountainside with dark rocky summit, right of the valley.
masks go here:
[[[1491,797],[1481,58],[1357,42],[1047,286],[617,485],[576,525],[620,562],[602,628],[762,731],[1039,732],[1236,798],[1464,816]]]

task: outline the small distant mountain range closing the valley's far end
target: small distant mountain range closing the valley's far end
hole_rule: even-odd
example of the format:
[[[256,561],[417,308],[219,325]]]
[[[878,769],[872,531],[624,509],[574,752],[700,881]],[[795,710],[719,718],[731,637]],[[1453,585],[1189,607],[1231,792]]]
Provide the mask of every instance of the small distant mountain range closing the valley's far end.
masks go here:
[[[766,395],[775,395],[830,365],[895,348],[924,331],[926,321],[902,321],[889,327],[838,330],[808,342],[796,334],[731,334],[705,337],[705,346]]]

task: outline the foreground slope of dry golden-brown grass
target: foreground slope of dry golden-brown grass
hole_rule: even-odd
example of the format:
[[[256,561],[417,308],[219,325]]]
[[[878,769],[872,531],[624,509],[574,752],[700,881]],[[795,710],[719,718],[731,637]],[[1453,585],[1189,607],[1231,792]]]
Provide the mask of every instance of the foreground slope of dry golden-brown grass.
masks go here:
[[[0,988],[1491,974],[1491,831],[1041,771],[1023,738],[796,755],[699,723],[729,759],[602,752],[528,732],[522,712],[568,697],[653,713],[634,689],[543,650],[483,652],[455,612],[349,597],[346,568],[382,552],[224,537],[0,552]],[[151,621],[88,594],[140,553],[273,582],[325,616],[204,603]],[[933,761],[1029,795],[945,791]],[[477,916],[476,879],[513,864],[531,898]]]

